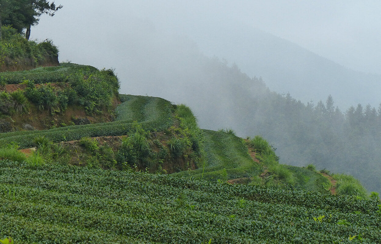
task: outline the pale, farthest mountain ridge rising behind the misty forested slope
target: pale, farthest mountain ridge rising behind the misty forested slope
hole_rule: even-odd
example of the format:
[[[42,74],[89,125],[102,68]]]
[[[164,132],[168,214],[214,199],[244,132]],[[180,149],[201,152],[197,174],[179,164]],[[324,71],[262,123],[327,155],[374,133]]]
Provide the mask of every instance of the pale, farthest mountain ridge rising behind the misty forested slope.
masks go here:
[[[235,62],[249,76],[262,77],[273,91],[306,103],[333,96],[341,109],[378,106],[381,76],[347,69],[290,41],[261,30],[226,24],[195,38],[207,55]]]

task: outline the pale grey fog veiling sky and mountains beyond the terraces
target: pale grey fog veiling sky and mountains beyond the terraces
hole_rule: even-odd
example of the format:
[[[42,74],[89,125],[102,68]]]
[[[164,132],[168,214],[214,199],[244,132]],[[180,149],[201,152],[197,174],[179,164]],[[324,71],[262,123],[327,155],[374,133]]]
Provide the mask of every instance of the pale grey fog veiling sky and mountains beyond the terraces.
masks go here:
[[[338,133],[339,142],[334,138],[326,142],[321,133],[331,125],[318,125],[319,113],[304,113],[306,108],[297,100],[317,105],[331,94],[343,112],[358,103],[377,108],[381,102],[380,2],[62,0],[56,4],[64,7],[53,17],[42,16],[31,38],[52,39],[60,62],[114,68],[121,93],[185,103],[202,128],[232,128],[242,137],[262,134],[279,146],[282,163],[348,168],[344,161],[330,166],[335,152],[343,149],[331,145],[345,145],[350,138],[341,127],[347,123],[340,117],[343,114],[337,113],[338,125],[330,128]],[[277,95],[287,92],[295,99]],[[285,101],[291,101],[290,106],[281,110]],[[316,117],[312,120],[310,115]],[[290,121],[281,123],[282,119]],[[286,126],[293,124],[303,130]],[[321,140],[314,140],[318,137]],[[302,139],[309,140],[311,148],[302,148],[307,145]],[[362,146],[373,148],[377,141],[375,137]],[[331,158],[323,160],[316,150],[322,147],[326,152],[335,149]],[[372,162],[380,168],[377,153]],[[348,157],[345,160],[356,156]],[[377,181],[373,189],[379,190]]]

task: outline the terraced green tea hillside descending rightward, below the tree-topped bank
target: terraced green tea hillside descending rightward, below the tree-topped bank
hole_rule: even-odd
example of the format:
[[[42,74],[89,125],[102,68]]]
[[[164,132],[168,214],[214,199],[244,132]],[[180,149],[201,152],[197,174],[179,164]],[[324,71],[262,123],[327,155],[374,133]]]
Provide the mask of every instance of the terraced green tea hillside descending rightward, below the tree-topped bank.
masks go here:
[[[353,177],[280,164],[261,136],[201,130],[186,105],[118,94],[113,70],[61,64],[0,82],[0,234],[15,243],[381,239],[378,193]]]

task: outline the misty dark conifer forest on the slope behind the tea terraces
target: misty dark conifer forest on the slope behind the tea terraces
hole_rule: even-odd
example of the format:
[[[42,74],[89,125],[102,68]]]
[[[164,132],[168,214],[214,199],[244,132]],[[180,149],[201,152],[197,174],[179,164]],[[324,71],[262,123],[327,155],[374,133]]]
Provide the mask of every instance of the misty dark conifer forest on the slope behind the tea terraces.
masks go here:
[[[381,106],[358,104],[342,112],[332,96],[303,104],[289,93],[270,91],[261,78],[248,77],[236,65],[217,65],[216,59],[206,64],[218,80],[219,94],[206,98],[208,116],[198,112],[208,117],[203,127],[218,126],[218,118],[240,136],[260,134],[268,139],[278,148],[282,164],[315,164],[354,175],[369,191],[381,190]]]

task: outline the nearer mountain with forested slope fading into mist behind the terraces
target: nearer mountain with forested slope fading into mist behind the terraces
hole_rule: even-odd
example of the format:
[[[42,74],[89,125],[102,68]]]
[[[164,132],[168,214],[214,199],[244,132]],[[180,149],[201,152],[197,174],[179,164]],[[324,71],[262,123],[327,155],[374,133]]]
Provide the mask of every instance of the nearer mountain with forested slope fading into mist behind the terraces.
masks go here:
[[[121,93],[147,94],[187,104],[201,128],[232,128],[242,137],[262,135],[278,148],[280,163],[313,163],[317,169],[349,173],[368,190],[380,191],[381,135],[377,131],[381,131],[381,123],[377,121],[381,117],[374,112],[376,109],[367,106],[366,110],[365,105],[353,108],[350,111],[357,114],[354,120],[346,120],[351,113],[338,108],[333,109],[333,116],[327,112],[338,103],[330,91],[333,87],[325,88],[335,101],[328,110],[325,102],[306,105],[292,93],[286,96],[271,91],[266,80],[249,77],[238,65],[205,56],[187,37],[168,35],[144,22],[139,27],[139,33],[134,27],[127,29],[131,33],[125,40],[126,48],[114,51],[120,60],[118,66],[123,67],[123,72],[117,68]]]

